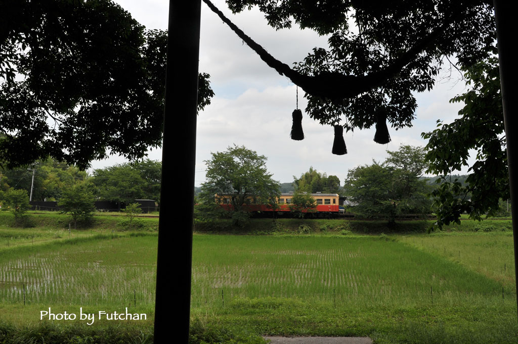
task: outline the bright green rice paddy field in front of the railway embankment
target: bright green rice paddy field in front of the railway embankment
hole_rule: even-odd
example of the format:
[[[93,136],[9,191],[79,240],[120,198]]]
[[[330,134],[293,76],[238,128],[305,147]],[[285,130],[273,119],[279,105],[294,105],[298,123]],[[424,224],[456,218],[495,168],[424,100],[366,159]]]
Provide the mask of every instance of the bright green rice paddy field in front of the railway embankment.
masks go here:
[[[0,234],[0,322],[128,307],[151,331],[156,234],[18,231],[35,234]],[[251,335],[518,343],[510,232],[195,234],[191,305],[193,323]]]

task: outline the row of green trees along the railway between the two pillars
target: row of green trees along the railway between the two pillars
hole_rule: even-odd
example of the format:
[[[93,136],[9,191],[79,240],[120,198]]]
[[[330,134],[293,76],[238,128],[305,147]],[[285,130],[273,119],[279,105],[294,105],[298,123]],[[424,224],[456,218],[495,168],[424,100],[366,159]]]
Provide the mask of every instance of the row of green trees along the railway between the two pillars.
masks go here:
[[[313,167],[300,177],[294,176],[293,183],[280,184],[266,170],[265,156],[244,146],[228,147],[225,152],[212,153],[212,159],[205,161],[207,182],[200,188],[195,215],[201,220],[226,217],[243,223],[253,208],[248,204],[262,204],[274,211],[280,193],[294,191],[289,207],[301,217],[316,209],[315,200],[308,194],[322,192],[346,198],[349,213],[393,222],[399,215],[425,218],[435,212],[444,202],[437,190],[448,183],[459,186],[453,198],[465,200],[471,196],[469,192],[463,193],[468,190],[463,188],[468,176],[424,176],[429,169],[424,147],[401,145],[397,151],[387,153],[389,156],[383,162],[373,160],[372,164],[350,169],[343,185],[337,176]],[[499,210],[490,215],[510,216],[509,210],[507,201],[500,200]]]

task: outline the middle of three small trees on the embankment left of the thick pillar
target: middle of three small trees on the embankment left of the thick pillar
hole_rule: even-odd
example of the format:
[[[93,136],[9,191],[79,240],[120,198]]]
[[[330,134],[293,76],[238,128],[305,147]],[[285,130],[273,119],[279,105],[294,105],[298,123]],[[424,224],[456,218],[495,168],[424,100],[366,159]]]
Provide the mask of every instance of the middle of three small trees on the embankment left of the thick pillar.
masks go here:
[[[62,213],[72,216],[74,229],[78,220],[88,221],[95,210],[94,196],[86,184],[74,185],[66,190],[57,205]]]

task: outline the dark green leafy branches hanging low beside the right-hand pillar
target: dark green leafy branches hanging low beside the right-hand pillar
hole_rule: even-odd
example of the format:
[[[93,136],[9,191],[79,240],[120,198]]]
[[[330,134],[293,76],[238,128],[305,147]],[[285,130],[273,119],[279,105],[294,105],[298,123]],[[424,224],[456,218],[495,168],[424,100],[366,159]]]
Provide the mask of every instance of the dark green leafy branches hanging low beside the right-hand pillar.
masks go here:
[[[438,121],[437,129],[422,134],[428,139],[428,172],[441,174],[441,184],[433,192],[439,227],[458,223],[462,213],[478,220],[496,215],[499,200],[509,199],[498,60],[491,57],[466,69],[466,84],[471,88],[450,100],[465,103],[461,117],[451,124]],[[451,175],[469,166],[471,149],[477,151],[477,161],[462,183]]]

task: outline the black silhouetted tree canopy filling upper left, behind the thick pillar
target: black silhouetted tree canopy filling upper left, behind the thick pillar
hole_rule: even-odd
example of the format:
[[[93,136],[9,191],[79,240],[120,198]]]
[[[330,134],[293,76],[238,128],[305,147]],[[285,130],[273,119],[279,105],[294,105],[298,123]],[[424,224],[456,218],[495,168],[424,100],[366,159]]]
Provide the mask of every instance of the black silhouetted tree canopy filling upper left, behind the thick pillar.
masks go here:
[[[0,162],[84,169],[162,144],[167,34],[111,0],[0,1]],[[198,109],[210,102],[198,78]]]

